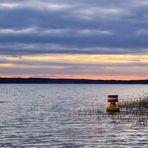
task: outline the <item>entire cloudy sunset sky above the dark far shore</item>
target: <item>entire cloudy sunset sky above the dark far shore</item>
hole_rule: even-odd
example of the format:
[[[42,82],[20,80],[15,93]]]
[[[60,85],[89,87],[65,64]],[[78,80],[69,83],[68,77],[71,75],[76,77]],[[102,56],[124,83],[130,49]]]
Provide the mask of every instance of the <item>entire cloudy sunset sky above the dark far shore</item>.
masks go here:
[[[0,77],[148,79],[148,0],[1,0]]]

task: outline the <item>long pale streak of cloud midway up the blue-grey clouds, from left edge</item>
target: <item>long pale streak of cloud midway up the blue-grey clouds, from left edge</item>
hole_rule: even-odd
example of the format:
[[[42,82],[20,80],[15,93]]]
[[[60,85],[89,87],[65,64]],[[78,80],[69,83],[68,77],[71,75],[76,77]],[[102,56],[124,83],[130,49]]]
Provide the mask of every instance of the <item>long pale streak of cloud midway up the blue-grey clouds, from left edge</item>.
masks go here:
[[[37,28],[37,27],[29,27],[23,29],[1,29],[0,34],[5,35],[23,35],[23,34],[42,34],[42,35],[111,35],[113,34],[111,31],[108,30],[99,30],[99,29],[52,29],[52,28]]]

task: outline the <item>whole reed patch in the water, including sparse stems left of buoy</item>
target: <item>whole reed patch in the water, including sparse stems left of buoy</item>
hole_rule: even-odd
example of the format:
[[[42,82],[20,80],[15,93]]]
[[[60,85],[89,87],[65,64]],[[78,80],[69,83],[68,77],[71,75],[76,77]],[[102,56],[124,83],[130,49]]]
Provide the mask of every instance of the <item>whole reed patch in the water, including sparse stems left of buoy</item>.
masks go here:
[[[148,125],[148,96],[119,103],[120,112],[106,112],[99,109],[78,110],[75,114],[83,118],[96,115],[99,120],[110,120],[113,124]]]

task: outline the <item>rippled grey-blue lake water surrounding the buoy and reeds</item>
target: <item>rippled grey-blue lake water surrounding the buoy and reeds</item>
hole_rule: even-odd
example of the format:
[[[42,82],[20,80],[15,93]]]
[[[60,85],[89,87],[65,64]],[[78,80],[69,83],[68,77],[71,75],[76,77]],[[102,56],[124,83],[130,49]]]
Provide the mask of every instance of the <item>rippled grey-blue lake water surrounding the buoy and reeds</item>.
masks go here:
[[[1,84],[0,147],[147,147],[147,125],[105,113],[108,94],[134,100],[148,85]]]

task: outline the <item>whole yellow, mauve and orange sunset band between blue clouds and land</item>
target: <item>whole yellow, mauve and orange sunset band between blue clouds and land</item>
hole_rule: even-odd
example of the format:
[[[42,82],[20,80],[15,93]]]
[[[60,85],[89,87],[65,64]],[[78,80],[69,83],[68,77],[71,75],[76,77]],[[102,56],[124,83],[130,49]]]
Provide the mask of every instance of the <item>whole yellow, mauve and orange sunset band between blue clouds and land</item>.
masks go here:
[[[148,55],[46,54],[1,56],[1,77],[147,79]],[[6,62],[6,63],[5,63]],[[14,70],[9,74],[7,71]],[[16,70],[18,71],[15,72]]]

